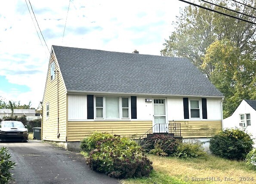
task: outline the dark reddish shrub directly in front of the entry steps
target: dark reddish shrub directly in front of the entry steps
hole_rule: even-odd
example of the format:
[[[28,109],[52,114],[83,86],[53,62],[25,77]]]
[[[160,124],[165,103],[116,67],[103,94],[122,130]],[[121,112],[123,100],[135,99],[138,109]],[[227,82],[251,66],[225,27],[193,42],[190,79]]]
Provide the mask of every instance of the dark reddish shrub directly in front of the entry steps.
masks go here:
[[[164,134],[156,134],[152,137],[147,137],[143,139],[141,142],[142,147],[145,151],[150,152],[151,150],[161,149],[163,153],[166,153],[167,156],[172,156],[177,148],[178,148],[178,141],[171,136],[167,136]],[[152,151],[151,151],[152,153]]]

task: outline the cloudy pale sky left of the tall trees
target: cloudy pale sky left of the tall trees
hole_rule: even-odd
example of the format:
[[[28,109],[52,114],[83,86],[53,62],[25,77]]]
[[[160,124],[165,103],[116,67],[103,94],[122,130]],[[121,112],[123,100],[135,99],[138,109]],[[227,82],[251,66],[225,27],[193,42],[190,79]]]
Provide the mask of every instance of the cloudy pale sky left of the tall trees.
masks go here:
[[[68,12],[69,0],[30,3],[49,50],[63,45],[153,55],[160,55],[179,8],[187,6],[179,0],[71,0]],[[0,97],[37,108],[49,51],[30,3],[0,1]]]

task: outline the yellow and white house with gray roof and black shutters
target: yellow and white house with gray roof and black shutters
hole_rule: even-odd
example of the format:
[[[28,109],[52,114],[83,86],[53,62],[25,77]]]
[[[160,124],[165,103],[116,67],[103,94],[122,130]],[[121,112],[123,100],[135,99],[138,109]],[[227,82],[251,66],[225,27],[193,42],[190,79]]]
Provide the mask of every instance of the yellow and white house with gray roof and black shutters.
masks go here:
[[[224,96],[186,58],[52,45],[42,139],[77,149],[95,131],[208,140]]]

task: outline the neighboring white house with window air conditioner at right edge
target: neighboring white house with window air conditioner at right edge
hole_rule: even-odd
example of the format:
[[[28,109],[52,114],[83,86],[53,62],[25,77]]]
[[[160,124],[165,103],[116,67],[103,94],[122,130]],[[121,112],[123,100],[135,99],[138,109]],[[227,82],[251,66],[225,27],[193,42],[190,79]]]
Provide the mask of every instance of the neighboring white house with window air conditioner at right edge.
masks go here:
[[[243,100],[234,113],[223,120],[223,128],[232,127],[243,128],[256,139],[256,100]]]

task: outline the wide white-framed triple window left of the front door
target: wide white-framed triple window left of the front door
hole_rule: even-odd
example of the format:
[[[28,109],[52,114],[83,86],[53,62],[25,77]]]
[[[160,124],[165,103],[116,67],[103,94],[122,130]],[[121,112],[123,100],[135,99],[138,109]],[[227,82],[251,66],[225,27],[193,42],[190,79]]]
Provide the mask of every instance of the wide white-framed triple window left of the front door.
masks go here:
[[[130,98],[96,96],[95,97],[96,119],[129,119]]]

